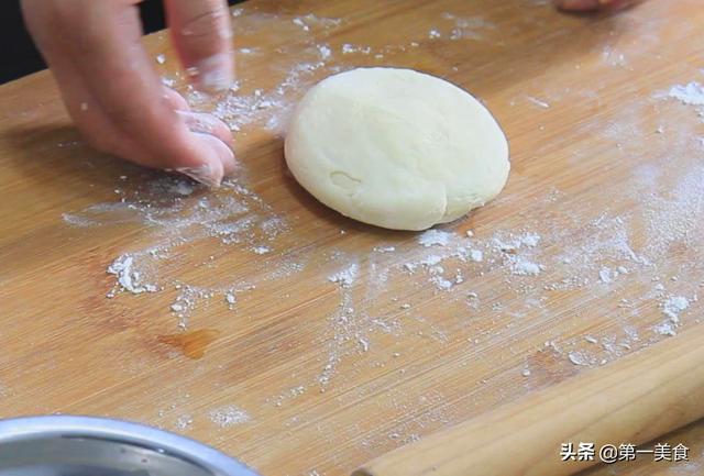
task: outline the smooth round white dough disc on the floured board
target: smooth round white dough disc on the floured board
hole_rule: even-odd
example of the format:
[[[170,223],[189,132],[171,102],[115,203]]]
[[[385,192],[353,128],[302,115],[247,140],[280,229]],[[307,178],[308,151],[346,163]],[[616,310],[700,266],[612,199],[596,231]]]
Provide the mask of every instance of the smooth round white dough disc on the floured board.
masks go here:
[[[425,230],[483,206],[508,178],[508,143],[476,99],[435,76],[359,68],[298,104],[286,163],[310,193],[355,220]]]

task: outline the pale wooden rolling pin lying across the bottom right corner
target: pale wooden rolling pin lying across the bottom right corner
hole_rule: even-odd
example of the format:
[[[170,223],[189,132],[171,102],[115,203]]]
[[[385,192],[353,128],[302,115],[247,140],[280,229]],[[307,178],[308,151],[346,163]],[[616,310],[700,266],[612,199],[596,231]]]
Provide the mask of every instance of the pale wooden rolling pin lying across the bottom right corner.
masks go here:
[[[382,455],[353,475],[565,476],[600,457],[614,463],[618,455],[602,455],[604,445],[642,445],[703,417],[702,341],[700,326]],[[594,443],[598,456],[581,458],[580,442]],[[554,458],[565,443],[574,455]]]

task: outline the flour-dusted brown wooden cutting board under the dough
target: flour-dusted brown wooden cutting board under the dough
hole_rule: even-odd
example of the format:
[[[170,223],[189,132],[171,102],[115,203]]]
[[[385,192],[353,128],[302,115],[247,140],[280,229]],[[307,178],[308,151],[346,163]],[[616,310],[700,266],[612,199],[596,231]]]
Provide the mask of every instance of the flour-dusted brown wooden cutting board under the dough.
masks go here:
[[[243,171],[217,191],[90,150],[47,73],[0,87],[0,416],[124,418],[265,475],[339,475],[700,324],[704,124],[686,85],[704,81],[704,10],[549,3],[252,0],[220,98],[147,37],[164,81],[233,129]],[[499,199],[418,235],[301,190],[287,114],[354,66],[481,98],[512,145]],[[592,474],[703,471],[701,424],[668,441],[691,462]]]

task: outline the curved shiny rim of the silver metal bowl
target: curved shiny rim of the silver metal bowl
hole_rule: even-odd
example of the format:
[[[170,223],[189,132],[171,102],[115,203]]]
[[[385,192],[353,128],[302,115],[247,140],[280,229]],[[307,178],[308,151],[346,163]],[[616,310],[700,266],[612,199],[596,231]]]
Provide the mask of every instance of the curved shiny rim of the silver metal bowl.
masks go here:
[[[123,441],[189,460],[223,476],[257,476],[219,451],[191,440],[138,423],[81,416],[24,417],[0,420],[0,443],[34,438],[85,436]]]

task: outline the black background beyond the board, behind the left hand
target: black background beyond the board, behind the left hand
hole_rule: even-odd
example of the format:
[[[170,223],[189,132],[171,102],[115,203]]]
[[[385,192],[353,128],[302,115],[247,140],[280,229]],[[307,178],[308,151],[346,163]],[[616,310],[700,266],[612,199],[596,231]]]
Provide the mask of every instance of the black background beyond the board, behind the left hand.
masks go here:
[[[230,0],[230,4],[241,1]],[[161,0],[143,1],[140,10],[146,33],[164,29],[164,10]],[[20,0],[0,0],[0,84],[46,68],[24,27]]]

